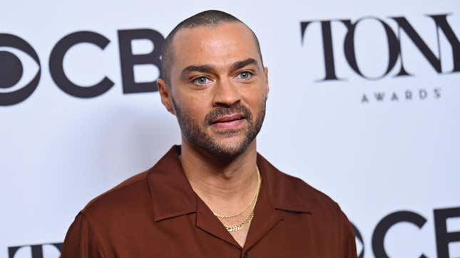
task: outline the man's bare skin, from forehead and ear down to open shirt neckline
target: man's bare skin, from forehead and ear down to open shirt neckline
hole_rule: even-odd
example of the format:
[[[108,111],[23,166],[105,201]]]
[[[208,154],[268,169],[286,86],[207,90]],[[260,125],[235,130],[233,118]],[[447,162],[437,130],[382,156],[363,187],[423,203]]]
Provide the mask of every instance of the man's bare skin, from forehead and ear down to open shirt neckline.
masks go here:
[[[158,91],[165,108],[178,118],[185,175],[210,210],[237,213],[257,188],[256,140],[247,141],[248,135],[257,134],[257,124],[262,125],[267,68],[252,33],[239,22],[184,28],[172,44],[170,85],[159,79]],[[243,119],[213,123],[232,114]],[[235,225],[249,212],[221,221]],[[240,246],[248,229],[231,232]]]

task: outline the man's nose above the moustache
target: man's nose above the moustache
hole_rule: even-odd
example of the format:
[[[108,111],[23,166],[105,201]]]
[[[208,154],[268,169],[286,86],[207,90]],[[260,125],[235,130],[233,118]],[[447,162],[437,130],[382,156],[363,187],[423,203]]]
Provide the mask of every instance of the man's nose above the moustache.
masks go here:
[[[232,84],[230,79],[221,79],[213,88],[213,106],[230,107],[240,102],[240,92],[237,85]]]

